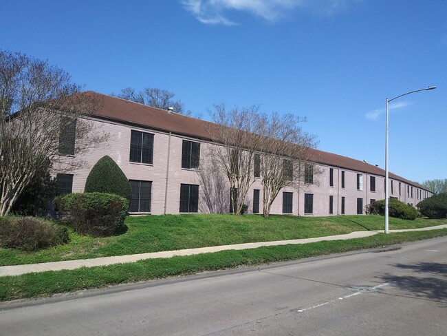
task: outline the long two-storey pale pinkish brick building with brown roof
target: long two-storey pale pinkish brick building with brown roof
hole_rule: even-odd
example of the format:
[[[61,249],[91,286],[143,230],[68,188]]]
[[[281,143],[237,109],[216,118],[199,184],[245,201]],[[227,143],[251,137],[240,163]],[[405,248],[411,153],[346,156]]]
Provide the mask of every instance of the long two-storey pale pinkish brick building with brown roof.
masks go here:
[[[108,155],[129,178],[132,214],[230,210],[228,182],[219,182],[223,193],[216,204],[217,197],[208,195],[200,178],[199,167],[207,160],[204,154],[211,147],[207,132],[211,123],[120,98],[102,94],[98,97],[102,105],[89,122],[94,123],[96,132],[109,134],[109,140],[83,155],[85,167],[57,175],[63,192],[83,192],[91,167]],[[65,160],[72,159],[69,149],[64,149],[63,154]],[[362,214],[371,201],[384,199],[383,169],[317,149],[312,149],[312,158],[320,171],[318,177],[314,179],[309,171],[298,187],[283,188],[272,204],[272,214]],[[390,197],[413,206],[432,195],[417,183],[394,174],[390,174],[389,183]],[[249,213],[262,212],[261,193],[261,178],[254,177],[245,202]]]

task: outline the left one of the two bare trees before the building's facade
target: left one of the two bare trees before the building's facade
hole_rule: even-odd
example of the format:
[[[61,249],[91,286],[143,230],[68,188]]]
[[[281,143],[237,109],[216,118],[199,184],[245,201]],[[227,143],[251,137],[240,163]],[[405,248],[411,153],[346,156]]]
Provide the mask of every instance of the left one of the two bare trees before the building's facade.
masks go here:
[[[253,184],[254,152],[259,144],[259,107],[226,109],[215,105],[210,111],[215,124],[208,133],[213,141],[210,158],[228,178],[230,185],[230,210],[240,214],[250,186]]]

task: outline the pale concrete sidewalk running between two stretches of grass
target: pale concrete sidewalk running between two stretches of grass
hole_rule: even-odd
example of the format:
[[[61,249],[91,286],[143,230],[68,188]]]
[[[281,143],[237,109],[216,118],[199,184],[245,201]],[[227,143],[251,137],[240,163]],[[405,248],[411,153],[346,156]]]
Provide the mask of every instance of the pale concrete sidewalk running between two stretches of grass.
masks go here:
[[[390,232],[405,232],[405,231],[424,231],[435,229],[447,229],[447,224],[439,225],[437,227],[425,227],[423,229],[405,229],[405,230],[390,230]],[[369,237],[380,231],[355,231],[346,235],[329,235],[327,237],[318,238],[306,238],[296,240],[279,240],[277,242],[249,242],[246,244],[235,245],[221,245],[200,247],[198,249],[184,249],[177,251],[162,251],[153,253],[141,253],[134,255],[118,255],[113,257],[102,257],[85,260],[68,260],[63,262],[43,262],[41,264],[27,264],[27,265],[14,265],[14,266],[0,266],[0,277],[6,275],[21,275],[25,273],[45,272],[45,271],[61,271],[63,269],[79,269],[80,267],[94,267],[94,266],[106,266],[112,264],[124,264],[126,262],[136,262],[138,260],[153,259],[153,258],[171,258],[175,255],[195,255],[199,253],[219,252],[224,250],[243,250],[243,249],[256,249],[261,246],[274,246],[285,244],[307,244],[309,242],[321,242],[327,240],[347,240],[353,238]]]

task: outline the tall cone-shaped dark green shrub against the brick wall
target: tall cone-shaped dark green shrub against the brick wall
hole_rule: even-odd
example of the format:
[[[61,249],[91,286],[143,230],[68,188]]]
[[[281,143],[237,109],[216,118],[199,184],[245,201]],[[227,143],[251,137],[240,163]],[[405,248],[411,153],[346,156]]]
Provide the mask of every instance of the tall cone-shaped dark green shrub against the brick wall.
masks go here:
[[[86,193],[114,193],[124,197],[129,203],[132,200],[132,189],[127,177],[113,158],[102,156],[91,168],[85,182]]]

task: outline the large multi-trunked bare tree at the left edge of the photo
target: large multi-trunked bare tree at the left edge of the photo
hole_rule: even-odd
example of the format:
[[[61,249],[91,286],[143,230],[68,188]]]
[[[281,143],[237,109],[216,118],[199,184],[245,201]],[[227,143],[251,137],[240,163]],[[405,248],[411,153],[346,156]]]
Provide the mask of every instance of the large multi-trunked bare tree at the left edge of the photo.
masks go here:
[[[96,108],[96,96],[80,93],[63,70],[0,50],[0,216],[45,162],[72,170],[83,165],[76,154],[106,140],[83,118]]]

